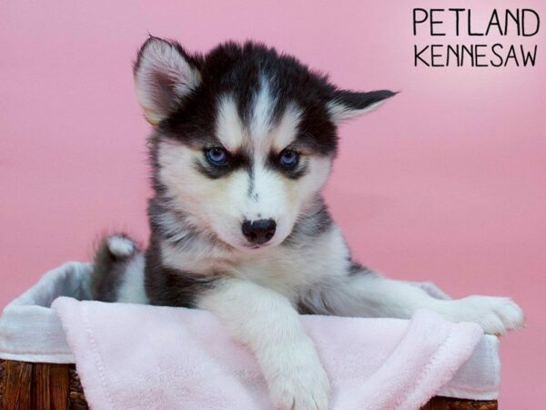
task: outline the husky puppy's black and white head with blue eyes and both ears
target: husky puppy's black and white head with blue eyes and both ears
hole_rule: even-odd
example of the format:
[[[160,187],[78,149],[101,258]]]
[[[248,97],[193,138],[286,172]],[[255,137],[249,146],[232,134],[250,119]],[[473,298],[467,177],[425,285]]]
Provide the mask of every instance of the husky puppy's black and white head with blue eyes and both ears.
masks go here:
[[[394,95],[338,89],[254,43],[201,56],[157,37],[138,53],[135,83],[154,126],[156,190],[242,250],[288,237],[329,176],[339,122]]]

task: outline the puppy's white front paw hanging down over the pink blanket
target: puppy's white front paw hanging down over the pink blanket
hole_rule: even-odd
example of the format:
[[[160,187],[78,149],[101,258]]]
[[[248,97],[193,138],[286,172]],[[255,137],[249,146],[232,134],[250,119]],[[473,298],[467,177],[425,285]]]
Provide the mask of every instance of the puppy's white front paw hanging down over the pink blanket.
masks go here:
[[[268,383],[276,408],[328,410],[329,380],[315,349],[292,348],[277,359],[281,365]]]

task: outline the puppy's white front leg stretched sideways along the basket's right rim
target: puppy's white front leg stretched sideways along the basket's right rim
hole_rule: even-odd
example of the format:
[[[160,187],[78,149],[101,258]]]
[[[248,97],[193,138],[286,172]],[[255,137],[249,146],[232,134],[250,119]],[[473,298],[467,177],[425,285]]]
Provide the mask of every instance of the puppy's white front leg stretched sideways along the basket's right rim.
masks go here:
[[[432,297],[413,283],[393,281],[362,271],[339,278],[309,293],[302,304],[315,313],[343,316],[409,318],[418,309],[440,313],[453,322],[475,322],[486,333],[501,334],[521,327],[521,308],[509,298],[469,296],[457,300]]]

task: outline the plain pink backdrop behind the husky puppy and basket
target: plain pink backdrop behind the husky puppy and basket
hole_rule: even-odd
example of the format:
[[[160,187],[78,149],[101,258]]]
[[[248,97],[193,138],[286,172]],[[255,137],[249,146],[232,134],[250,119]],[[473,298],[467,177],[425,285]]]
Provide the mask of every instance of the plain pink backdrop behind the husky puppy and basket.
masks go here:
[[[485,18],[497,2],[470,3]],[[503,3],[546,17],[539,0]],[[355,255],[391,277],[520,302],[528,324],[502,340],[501,406],[536,408],[546,399],[546,30],[487,39],[538,43],[538,67],[415,68],[411,9],[433,5],[1,2],[0,306],[45,270],[88,260],[102,231],[147,239],[149,127],[131,76],[147,32],[200,51],[255,38],[343,87],[403,91],[341,128],[331,210]]]

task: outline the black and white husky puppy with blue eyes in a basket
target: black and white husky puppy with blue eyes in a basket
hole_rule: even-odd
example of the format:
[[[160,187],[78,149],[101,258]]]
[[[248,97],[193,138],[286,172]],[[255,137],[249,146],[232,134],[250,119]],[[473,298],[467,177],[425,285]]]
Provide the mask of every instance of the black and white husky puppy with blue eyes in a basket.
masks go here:
[[[394,92],[354,92],[248,42],[206,55],[150,37],[134,67],[154,195],[145,254],[123,234],[96,255],[96,299],[207,309],[256,355],[274,405],[326,409],[329,381],[298,313],[408,318],[425,308],[503,333],[508,298],[448,300],[353,261],[321,196],[341,121]]]

